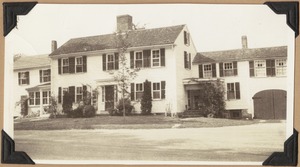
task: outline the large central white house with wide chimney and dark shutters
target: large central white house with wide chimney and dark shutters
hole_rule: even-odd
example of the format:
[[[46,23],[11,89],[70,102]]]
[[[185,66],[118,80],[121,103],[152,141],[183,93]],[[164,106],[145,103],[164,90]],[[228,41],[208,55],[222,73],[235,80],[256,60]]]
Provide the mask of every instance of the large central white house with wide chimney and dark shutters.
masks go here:
[[[196,49],[186,25],[133,29],[132,17],[117,17],[117,32],[128,44],[125,57],[129,68],[139,68],[128,91],[136,112],[140,112],[143,82],[151,82],[152,113],[182,112],[185,109],[183,78],[192,77],[191,60]],[[50,54],[51,90],[59,107],[68,91],[73,102],[83,99],[85,90],[96,89],[97,113],[113,108],[120,94],[113,73],[119,70],[116,34],[74,38]]]

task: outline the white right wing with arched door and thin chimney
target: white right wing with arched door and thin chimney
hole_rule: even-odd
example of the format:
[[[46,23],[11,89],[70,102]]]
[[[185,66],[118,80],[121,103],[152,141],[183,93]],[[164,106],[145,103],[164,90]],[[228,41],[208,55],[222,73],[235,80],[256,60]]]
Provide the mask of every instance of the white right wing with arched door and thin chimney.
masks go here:
[[[248,48],[243,36],[241,49],[197,53],[193,68],[193,81],[184,79],[188,108],[197,109],[203,98],[199,82],[220,79],[231,117],[247,112],[259,119],[285,119],[286,46]]]

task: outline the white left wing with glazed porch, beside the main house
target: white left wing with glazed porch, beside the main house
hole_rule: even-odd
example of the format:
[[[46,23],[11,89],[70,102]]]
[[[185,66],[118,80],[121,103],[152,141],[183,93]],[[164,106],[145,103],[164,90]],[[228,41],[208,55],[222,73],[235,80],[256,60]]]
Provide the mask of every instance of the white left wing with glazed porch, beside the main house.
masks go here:
[[[28,99],[28,113],[43,114],[49,105],[51,70],[49,55],[21,56],[14,62],[14,116],[21,115],[21,101]]]

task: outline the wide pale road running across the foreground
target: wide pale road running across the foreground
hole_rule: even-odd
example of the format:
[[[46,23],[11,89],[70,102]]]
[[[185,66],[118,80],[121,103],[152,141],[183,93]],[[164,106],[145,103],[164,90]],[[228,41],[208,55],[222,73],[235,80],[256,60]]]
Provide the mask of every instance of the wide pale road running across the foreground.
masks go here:
[[[33,160],[264,161],[284,141],[285,123],[15,132],[16,150]]]

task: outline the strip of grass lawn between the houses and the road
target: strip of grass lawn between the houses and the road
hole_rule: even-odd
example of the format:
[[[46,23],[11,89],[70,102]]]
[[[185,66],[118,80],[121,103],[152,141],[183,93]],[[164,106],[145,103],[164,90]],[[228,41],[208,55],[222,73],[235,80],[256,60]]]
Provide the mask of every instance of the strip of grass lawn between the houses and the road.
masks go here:
[[[15,130],[63,129],[162,129],[238,126],[258,123],[259,120],[232,120],[218,118],[171,118],[153,116],[96,116],[93,118],[55,118],[15,120]]]

